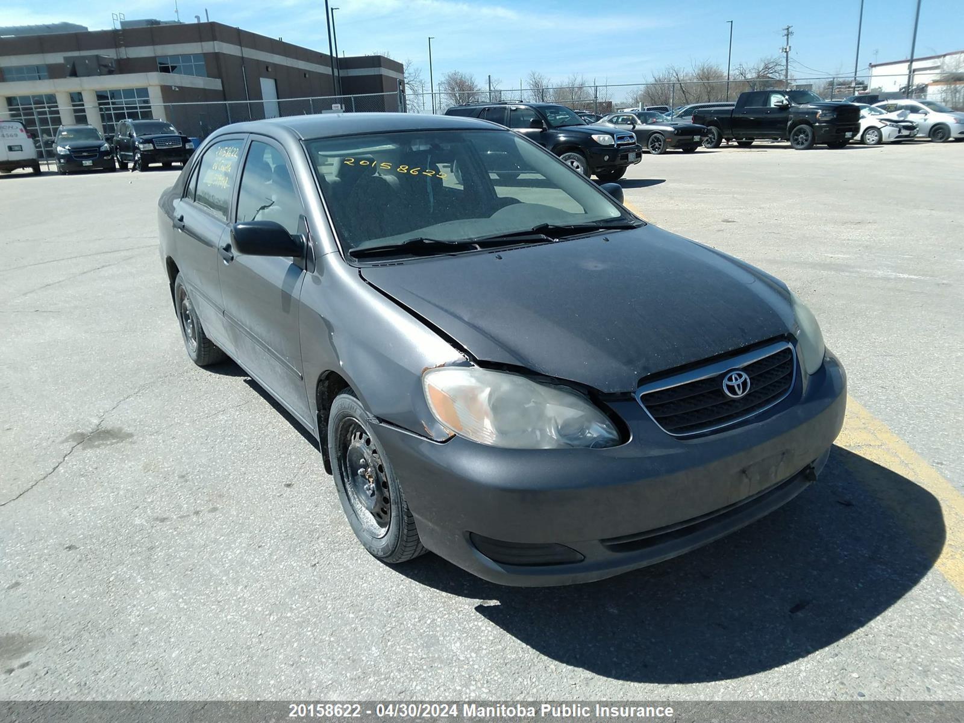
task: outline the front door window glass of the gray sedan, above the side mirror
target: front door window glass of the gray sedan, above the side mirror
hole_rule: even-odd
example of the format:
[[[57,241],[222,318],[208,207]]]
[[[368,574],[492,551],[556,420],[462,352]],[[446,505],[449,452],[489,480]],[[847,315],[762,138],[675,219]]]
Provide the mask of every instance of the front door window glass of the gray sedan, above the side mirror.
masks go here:
[[[297,233],[303,213],[281,151],[253,141],[241,173],[237,220],[275,221],[288,233]]]

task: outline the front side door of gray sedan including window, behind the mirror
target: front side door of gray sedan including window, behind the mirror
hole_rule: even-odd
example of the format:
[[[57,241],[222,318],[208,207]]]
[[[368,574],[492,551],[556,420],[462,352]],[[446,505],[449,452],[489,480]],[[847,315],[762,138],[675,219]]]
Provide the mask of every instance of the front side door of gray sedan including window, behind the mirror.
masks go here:
[[[265,136],[251,136],[233,219],[274,221],[288,233],[307,232],[305,204],[294,178],[280,145]],[[299,328],[305,259],[235,254],[229,232],[218,254],[225,322],[235,359],[310,427]]]

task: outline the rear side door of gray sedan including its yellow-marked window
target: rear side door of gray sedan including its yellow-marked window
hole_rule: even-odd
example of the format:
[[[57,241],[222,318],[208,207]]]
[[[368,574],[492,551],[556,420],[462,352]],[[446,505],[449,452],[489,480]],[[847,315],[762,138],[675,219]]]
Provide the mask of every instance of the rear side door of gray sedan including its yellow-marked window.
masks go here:
[[[218,249],[228,234],[231,184],[244,143],[245,136],[236,135],[207,147],[194,166],[183,196],[174,201],[174,260],[191,292],[204,331],[228,353],[233,345],[225,329]]]

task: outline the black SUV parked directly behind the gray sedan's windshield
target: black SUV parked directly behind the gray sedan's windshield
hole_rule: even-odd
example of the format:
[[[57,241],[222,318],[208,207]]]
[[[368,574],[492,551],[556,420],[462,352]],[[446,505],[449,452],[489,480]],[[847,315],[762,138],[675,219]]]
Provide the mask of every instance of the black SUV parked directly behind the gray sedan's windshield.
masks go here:
[[[595,175],[604,182],[622,178],[626,169],[642,158],[642,147],[632,133],[588,125],[575,111],[556,103],[469,103],[452,106],[445,115],[505,125],[548,148],[580,174]],[[506,173],[513,172],[508,169]]]

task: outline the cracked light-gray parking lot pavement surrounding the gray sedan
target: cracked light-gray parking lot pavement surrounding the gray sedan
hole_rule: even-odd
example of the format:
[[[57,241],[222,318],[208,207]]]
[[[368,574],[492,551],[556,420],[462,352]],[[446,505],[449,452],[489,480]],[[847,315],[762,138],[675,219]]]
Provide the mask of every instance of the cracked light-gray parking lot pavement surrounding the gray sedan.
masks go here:
[[[176,171],[0,177],[0,698],[964,698],[962,172],[929,143],[630,170],[649,220],[814,309],[848,418],[770,517],[552,589],[375,561],[308,434],[188,360]]]

